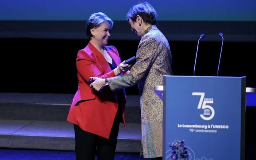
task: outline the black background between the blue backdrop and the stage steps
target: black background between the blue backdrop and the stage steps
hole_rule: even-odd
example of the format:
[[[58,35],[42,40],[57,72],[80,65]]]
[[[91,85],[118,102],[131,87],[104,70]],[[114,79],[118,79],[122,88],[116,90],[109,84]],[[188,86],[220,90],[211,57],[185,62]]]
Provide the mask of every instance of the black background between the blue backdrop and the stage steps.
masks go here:
[[[134,33],[131,33],[134,34]],[[76,54],[88,40],[1,38],[0,92],[68,93],[77,90]],[[136,55],[139,40],[112,40],[122,60]],[[195,41],[169,41],[174,75],[193,75]],[[216,76],[221,38],[199,44],[196,76]],[[219,76],[246,76],[246,86],[256,87],[256,42],[225,42]],[[138,94],[138,87],[126,88]]]

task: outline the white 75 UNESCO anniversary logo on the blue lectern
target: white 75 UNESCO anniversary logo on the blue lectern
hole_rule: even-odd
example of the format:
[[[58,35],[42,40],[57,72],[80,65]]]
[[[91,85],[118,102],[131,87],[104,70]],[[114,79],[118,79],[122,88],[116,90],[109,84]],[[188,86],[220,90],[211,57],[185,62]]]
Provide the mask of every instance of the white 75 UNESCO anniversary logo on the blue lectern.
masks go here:
[[[204,98],[204,92],[192,92],[192,96],[200,96],[197,109],[204,110],[204,114],[200,114],[203,120],[211,120],[214,117],[214,108],[208,104],[213,104],[212,98]],[[211,111],[211,114],[210,114]],[[207,115],[207,116],[206,116]]]

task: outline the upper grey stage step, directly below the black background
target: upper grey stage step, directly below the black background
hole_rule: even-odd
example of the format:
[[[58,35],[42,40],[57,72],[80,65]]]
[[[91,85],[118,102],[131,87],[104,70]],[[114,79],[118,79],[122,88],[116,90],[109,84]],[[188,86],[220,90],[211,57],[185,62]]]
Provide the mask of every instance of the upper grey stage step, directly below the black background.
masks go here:
[[[0,119],[66,121],[72,94],[0,93]],[[139,96],[127,96],[126,123],[141,123]]]

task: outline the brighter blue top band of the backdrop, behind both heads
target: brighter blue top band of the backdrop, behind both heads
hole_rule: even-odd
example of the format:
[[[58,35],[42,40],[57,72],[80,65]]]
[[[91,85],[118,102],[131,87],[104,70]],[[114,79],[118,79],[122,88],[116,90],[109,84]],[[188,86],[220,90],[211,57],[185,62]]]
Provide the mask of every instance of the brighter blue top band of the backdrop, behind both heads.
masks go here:
[[[141,0],[1,0],[0,20],[87,20],[105,12],[126,20],[128,10]],[[148,0],[158,20],[256,21],[256,0]]]

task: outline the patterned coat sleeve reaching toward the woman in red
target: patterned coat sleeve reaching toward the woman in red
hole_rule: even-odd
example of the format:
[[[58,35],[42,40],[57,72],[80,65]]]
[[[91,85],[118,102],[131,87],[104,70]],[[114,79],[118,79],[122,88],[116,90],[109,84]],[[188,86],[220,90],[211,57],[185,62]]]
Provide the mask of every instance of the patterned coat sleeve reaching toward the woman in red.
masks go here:
[[[108,78],[108,85],[112,91],[134,86],[150,70],[157,57],[158,42],[154,37],[145,35],[138,46],[136,63],[130,69],[130,74]]]

